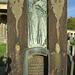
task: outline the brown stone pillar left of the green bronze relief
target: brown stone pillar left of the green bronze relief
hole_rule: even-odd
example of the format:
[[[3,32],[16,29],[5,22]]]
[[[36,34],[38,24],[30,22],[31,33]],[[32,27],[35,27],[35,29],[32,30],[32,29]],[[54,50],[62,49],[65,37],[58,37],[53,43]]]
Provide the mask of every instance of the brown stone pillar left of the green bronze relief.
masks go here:
[[[22,75],[27,48],[27,0],[8,1],[9,75]]]

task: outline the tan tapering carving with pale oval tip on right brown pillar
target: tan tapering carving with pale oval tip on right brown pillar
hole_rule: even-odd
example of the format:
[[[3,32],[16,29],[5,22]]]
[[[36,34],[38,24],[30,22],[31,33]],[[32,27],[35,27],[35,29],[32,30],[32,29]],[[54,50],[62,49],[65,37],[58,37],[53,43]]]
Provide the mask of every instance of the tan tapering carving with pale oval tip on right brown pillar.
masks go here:
[[[56,23],[57,40],[58,40],[57,43],[56,43],[56,51],[57,51],[57,53],[60,52],[60,46],[59,46],[60,23],[59,23],[59,20],[60,20],[60,18],[62,16],[64,3],[65,3],[64,0],[51,0],[53,12],[54,12],[55,17],[57,19],[57,23]]]

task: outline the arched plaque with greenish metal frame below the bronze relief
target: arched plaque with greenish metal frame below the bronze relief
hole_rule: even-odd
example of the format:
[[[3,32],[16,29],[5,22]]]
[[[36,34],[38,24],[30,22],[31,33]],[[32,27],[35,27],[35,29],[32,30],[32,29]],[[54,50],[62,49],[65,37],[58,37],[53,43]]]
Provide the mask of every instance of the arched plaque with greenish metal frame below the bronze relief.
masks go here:
[[[31,48],[26,51],[23,75],[49,75],[50,55],[45,48]]]

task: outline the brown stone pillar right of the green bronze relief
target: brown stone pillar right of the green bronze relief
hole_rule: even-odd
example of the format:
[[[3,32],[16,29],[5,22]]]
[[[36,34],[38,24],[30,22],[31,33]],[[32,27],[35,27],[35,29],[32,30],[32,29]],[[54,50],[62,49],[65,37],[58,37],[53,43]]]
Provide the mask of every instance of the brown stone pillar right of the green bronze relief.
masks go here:
[[[50,75],[67,75],[67,0],[48,0]]]

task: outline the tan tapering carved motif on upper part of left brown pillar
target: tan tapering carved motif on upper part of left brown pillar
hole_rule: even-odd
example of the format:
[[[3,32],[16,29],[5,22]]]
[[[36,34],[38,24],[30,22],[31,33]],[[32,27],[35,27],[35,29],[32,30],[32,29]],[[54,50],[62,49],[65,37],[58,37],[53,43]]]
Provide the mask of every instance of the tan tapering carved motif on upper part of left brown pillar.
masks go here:
[[[17,38],[19,37],[18,20],[22,15],[22,7],[24,0],[10,0],[10,7],[16,19]]]

